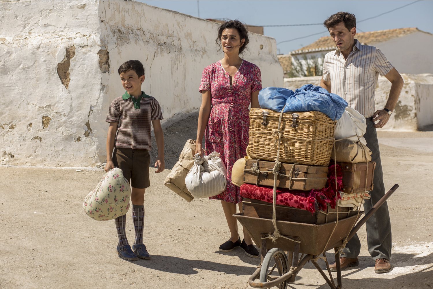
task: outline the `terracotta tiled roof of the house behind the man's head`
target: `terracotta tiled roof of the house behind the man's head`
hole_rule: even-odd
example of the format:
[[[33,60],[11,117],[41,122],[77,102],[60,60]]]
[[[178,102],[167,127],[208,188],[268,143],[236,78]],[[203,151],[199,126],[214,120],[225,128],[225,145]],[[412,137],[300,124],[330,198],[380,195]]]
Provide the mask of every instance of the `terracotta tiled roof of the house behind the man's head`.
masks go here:
[[[356,33],[355,38],[358,39],[359,42],[361,42],[362,44],[373,45],[378,42],[385,42],[397,37],[406,36],[414,32],[424,32],[424,31],[421,31],[416,27],[397,28],[397,29],[378,30],[378,31],[370,31],[370,32],[359,32]],[[317,39],[315,42],[311,43],[310,45],[304,46],[299,50],[295,50],[291,52],[291,54],[300,54],[305,52],[333,50],[333,49],[336,49],[336,47],[331,37],[323,36]]]

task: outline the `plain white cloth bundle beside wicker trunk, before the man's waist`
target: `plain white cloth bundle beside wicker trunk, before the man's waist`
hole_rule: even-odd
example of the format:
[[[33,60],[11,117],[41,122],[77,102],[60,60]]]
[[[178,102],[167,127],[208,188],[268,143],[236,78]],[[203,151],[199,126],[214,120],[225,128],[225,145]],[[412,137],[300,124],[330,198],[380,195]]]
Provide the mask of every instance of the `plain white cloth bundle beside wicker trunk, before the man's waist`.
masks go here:
[[[367,142],[364,139],[365,130],[367,130],[367,123],[365,117],[352,107],[346,107],[343,115],[337,120],[335,127],[335,139],[341,140],[348,138],[354,142],[362,143],[366,145]]]

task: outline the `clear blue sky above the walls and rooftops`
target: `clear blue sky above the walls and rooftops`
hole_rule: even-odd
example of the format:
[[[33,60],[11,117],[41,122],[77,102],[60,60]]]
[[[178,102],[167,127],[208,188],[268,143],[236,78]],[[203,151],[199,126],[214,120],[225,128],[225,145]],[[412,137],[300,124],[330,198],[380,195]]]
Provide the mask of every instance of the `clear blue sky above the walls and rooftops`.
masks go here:
[[[200,18],[239,19],[250,25],[287,25],[323,23],[333,13],[347,11],[354,13],[357,19],[357,31],[417,27],[425,32],[433,33],[433,1],[160,1],[143,0],[152,6],[178,11]],[[415,3],[413,3],[415,2]],[[413,3],[413,4],[410,4]],[[408,6],[405,6],[410,4]],[[388,11],[397,9],[390,13]],[[378,16],[382,13],[384,15]],[[372,19],[370,17],[378,16]],[[362,21],[364,19],[368,19]],[[287,54],[300,49],[321,36],[329,35],[323,25],[265,27],[265,35],[276,39],[278,53]],[[414,45],[421,45],[414,43]]]

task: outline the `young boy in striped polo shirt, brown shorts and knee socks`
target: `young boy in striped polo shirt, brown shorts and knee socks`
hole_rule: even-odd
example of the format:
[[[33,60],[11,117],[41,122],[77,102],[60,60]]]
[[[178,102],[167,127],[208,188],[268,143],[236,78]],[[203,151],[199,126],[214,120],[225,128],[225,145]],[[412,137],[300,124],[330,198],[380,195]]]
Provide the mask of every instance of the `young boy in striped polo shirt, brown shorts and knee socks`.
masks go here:
[[[149,182],[149,150],[151,147],[151,122],[158,146],[155,172],[162,172],[164,163],[164,135],[161,123],[162,113],[158,101],[143,91],[144,68],[138,60],[129,60],[119,67],[119,75],[125,94],[113,100],[108,109],[106,122],[110,123],[107,136],[107,165],[104,170],[115,166],[123,171],[123,176],[131,185],[132,221],[136,232],[131,246],[126,239],[126,215],[116,218],[119,244],[117,254],[126,260],[150,259],[143,244],[144,193]],[[117,135],[116,135],[117,133]],[[113,152],[114,148],[114,152]]]

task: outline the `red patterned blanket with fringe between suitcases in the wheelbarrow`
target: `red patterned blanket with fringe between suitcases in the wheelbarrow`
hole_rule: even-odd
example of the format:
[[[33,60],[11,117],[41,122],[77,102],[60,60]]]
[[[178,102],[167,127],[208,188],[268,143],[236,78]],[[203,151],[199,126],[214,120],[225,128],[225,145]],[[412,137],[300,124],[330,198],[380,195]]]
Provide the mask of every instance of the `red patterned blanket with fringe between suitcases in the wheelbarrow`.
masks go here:
[[[343,172],[341,167],[337,164],[335,174],[335,165],[329,166],[328,180],[326,186],[320,190],[299,191],[288,190],[284,188],[277,188],[276,204],[298,208],[314,212],[317,209],[325,211],[329,204],[331,208],[335,208],[337,199],[340,195],[336,194],[339,190],[343,189]],[[337,188],[335,184],[335,177],[337,177]],[[255,200],[273,203],[273,188],[265,186],[256,186],[251,184],[243,184],[240,187],[241,196],[243,198],[252,198]]]

